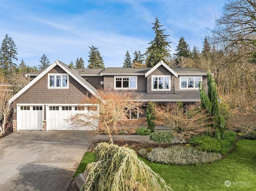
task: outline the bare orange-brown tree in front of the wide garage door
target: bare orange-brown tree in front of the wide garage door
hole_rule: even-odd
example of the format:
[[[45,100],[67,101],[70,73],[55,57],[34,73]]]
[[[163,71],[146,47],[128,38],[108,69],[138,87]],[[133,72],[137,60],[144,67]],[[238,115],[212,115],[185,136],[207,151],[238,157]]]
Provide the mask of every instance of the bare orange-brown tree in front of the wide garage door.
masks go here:
[[[81,103],[81,106],[93,104],[99,112],[92,109],[88,114],[76,114],[71,121],[79,126],[91,126],[97,133],[106,133],[110,144],[113,144],[112,134],[134,122],[129,120],[130,115],[141,113],[140,106],[143,103],[135,100],[140,100],[140,97],[133,92],[100,90],[96,96],[85,96]],[[95,121],[99,122],[98,126]]]

